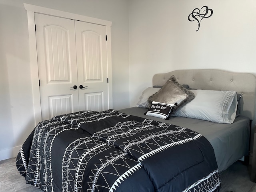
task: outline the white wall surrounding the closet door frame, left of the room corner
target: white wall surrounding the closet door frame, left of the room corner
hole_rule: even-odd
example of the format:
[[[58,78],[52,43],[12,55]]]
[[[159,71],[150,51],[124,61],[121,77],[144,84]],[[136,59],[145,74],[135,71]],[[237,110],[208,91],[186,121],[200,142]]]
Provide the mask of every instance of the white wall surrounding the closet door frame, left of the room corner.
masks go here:
[[[16,156],[38,123],[34,122],[28,22],[23,3],[112,21],[113,108],[129,106],[126,0],[1,0],[0,160]]]

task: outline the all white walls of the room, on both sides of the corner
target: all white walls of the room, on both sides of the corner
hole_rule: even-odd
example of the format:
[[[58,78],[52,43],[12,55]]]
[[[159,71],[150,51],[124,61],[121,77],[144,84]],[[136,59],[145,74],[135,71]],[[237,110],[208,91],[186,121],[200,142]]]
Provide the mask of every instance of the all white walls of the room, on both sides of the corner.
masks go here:
[[[155,73],[217,68],[256,74],[255,0],[1,0],[0,160],[16,156],[36,123],[23,3],[112,21],[114,109],[129,101],[134,106]],[[196,32],[188,15],[204,5],[214,13]]]

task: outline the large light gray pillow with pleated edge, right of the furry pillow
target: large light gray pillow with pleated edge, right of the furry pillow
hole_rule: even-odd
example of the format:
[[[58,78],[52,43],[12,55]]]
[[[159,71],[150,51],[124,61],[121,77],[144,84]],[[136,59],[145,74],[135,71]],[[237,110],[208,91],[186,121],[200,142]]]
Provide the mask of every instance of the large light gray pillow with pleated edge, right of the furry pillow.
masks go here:
[[[190,90],[195,98],[179,108],[174,116],[231,124],[236,118],[236,91]]]

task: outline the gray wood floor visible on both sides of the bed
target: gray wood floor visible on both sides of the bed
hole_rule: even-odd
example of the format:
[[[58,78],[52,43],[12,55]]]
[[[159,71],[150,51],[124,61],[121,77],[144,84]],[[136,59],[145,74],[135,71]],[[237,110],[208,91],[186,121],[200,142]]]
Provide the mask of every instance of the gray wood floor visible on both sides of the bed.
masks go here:
[[[16,158],[0,161],[0,192],[42,192],[26,184],[15,165]],[[247,167],[235,162],[220,174],[220,192],[256,192],[256,183],[251,182]]]

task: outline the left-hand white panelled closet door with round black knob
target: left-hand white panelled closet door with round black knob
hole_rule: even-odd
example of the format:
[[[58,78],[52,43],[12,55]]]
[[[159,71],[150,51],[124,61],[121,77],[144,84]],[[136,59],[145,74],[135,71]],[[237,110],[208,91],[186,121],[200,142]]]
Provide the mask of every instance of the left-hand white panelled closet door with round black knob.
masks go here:
[[[74,20],[35,14],[42,120],[79,110]]]

